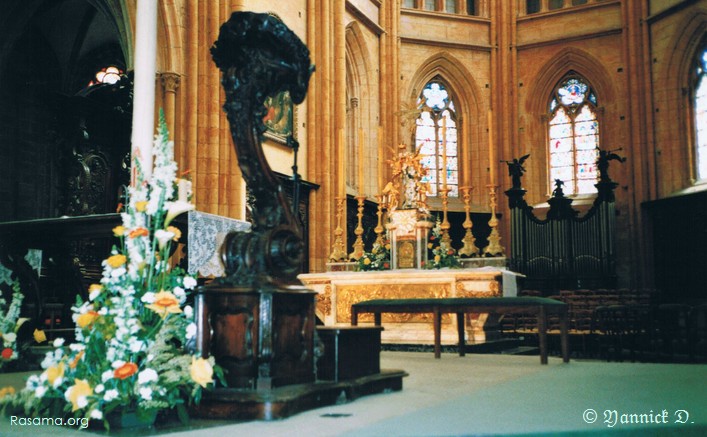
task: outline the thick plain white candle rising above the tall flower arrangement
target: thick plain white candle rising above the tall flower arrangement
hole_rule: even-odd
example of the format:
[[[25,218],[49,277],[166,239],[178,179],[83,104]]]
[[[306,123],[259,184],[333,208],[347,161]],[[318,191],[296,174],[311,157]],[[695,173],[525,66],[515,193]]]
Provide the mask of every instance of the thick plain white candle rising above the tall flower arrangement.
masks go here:
[[[155,73],[157,70],[157,2],[137,0],[135,23],[135,78],[133,85],[132,177],[136,162],[146,179],[152,175],[152,139],[155,135]]]

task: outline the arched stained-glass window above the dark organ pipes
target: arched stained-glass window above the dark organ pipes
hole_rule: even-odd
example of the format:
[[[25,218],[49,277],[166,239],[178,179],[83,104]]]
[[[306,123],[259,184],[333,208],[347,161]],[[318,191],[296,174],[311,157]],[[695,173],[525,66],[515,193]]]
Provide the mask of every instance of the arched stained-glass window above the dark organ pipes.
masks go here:
[[[550,187],[564,183],[565,194],[596,193],[599,121],[597,98],[582,78],[571,75],[550,99]]]

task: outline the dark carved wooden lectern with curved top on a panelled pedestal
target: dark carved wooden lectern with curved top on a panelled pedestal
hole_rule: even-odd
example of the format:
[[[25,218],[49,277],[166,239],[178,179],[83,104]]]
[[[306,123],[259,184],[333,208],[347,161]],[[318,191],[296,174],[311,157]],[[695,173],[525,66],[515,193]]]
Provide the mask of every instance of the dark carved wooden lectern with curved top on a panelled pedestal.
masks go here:
[[[301,223],[260,142],[266,97],[289,91],[295,104],[304,99],[314,70],[309,50],[276,17],[235,12],[221,26],[211,51],[223,73],[224,110],[248,186],[253,226],[250,232],[227,236],[222,247],[226,275],[197,292],[196,348],[204,357],[214,356],[228,388],[206,393],[196,413],[274,419],[333,404],[342,393],[353,398],[400,390],[404,372],[372,374],[378,367],[370,365],[352,373],[356,378],[349,381],[315,380],[316,293],[297,279],[303,257]],[[296,186],[296,161],[293,170]],[[297,194],[292,197],[298,203]],[[379,331],[347,331],[341,334],[342,343],[359,334],[374,340],[369,361],[377,362]],[[322,361],[330,357],[332,366],[346,368],[335,352],[325,351]]]

